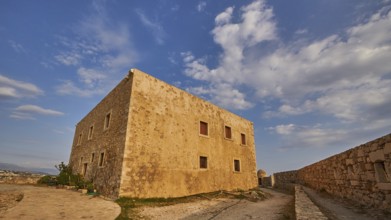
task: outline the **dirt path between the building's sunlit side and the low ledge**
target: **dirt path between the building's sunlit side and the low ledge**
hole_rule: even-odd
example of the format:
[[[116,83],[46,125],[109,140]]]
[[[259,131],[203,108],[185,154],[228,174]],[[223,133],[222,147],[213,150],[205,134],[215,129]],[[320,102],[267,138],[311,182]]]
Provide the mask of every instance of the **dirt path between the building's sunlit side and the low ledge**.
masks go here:
[[[218,198],[164,207],[143,207],[139,213],[146,219],[286,219],[286,207],[293,196],[269,189],[271,198],[259,202]],[[293,203],[292,203],[293,204]]]

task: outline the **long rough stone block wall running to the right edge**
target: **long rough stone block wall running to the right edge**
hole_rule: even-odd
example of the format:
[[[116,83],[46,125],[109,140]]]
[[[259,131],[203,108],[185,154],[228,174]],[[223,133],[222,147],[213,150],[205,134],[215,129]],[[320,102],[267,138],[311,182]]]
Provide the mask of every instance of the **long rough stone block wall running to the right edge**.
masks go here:
[[[391,134],[306,166],[297,178],[313,189],[389,211]]]

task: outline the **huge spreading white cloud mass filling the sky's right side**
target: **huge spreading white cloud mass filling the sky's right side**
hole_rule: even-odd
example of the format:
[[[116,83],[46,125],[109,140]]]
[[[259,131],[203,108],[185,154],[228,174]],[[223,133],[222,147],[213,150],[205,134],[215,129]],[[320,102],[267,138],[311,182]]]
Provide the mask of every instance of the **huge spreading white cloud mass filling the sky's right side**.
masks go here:
[[[386,123],[391,122],[387,111],[391,109],[390,8],[347,27],[345,33],[313,41],[294,38],[291,42],[282,42],[277,35],[273,9],[265,1],[242,7],[239,22],[233,22],[237,21],[234,10],[227,8],[215,18],[211,33],[223,49],[217,67],[210,68],[204,57],[182,53],[185,74],[204,82],[202,89],[189,91],[213,94],[209,99],[221,104],[226,96],[214,94],[213,89],[224,85],[237,90],[241,100],[253,97],[256,103],[270,106],[265,107],[265,117],[308,115],[307,123],[329,120],[327,126],[273,127],[278,135],[287,137],[286,146],[291,147],[327,146],[390,128]],[[274,47],[265,52],[266,41]],[[231,109],[234,105],[246,108],[240,102],[228,104]]]

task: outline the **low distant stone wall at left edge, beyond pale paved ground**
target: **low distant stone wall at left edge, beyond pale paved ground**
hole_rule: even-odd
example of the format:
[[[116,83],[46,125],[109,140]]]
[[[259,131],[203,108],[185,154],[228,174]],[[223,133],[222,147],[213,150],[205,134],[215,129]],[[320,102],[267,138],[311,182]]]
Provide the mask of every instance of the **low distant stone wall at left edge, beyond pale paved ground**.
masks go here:
[[[0,184],[37,184],[42,174],[0,170]]]

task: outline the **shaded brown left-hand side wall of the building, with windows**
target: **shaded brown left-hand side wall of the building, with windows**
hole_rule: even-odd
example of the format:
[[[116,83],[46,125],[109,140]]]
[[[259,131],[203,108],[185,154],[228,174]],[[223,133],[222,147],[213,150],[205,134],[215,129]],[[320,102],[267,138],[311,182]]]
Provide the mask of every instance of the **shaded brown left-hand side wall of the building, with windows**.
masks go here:
[[[74,172],[113,198],[119,194],[131,88],[127,76],[77,124],[69,160]]]

